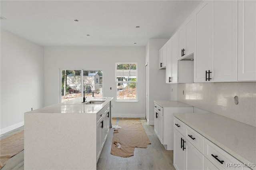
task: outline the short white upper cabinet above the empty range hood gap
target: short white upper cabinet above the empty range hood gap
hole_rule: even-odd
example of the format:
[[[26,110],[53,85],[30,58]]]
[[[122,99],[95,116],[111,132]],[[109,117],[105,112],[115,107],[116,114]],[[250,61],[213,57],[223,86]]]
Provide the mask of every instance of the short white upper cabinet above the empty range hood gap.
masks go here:
[[[188,20],[186,24],[178,31],[178,59],[194,53],[194,18]]]

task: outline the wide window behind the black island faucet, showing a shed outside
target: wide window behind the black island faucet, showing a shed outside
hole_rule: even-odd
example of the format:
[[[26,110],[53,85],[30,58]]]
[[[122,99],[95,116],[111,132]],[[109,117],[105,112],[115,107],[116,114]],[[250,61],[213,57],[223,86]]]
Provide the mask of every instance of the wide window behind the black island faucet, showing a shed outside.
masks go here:
[[[61,101],[83,95],[102,97],[102,72],[102,70],[62,70]]]

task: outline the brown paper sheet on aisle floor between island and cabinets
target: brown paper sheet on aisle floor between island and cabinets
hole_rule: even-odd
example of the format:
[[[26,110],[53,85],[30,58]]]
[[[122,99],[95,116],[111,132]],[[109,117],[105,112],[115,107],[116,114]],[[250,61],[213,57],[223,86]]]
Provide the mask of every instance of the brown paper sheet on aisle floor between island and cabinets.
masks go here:
[[[115,124],[116,118],[112,119]],[[129,157],[134,155],[134,148],[147,148],[150,140],[139,118],[120,118],[117,123],[117,131],[114,131],[110,154]]]

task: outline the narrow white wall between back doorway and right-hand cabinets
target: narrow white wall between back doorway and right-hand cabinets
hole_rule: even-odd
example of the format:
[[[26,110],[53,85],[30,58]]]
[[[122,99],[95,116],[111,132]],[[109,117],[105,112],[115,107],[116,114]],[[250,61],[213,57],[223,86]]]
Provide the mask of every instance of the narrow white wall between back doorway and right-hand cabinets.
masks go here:
[[[146,45],[148,63],[148,124],[154,125],[154,101],[170,100],[170,84],[165,83],[165,69],[158,69],[158,51],[168,39],[150,39]]]

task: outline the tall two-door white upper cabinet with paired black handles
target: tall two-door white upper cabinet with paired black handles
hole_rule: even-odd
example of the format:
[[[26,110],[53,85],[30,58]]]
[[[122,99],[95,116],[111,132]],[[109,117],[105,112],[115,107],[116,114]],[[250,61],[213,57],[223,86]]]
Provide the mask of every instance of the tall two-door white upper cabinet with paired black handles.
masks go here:
[[[237,81],[238,1],[205,1],[196,11],[194,82]]]

